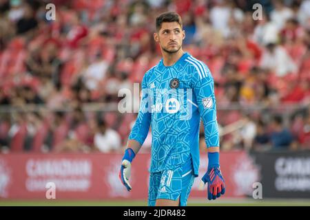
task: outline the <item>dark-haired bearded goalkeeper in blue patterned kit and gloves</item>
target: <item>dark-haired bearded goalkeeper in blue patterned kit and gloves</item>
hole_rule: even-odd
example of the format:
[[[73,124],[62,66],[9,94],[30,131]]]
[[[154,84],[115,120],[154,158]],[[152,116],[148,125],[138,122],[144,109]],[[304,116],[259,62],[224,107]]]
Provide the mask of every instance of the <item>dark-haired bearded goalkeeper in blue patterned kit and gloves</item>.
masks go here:
[[[185,32],[180,16],[165,12],[156,18],[154,40],[163,58],[142,81],[138,117],[128,137],[119,177],[127,190],[132,161],[152,126],[149,167],[149,206],[186,206],[199,168],[200,118],[205,127],[208,167],[200,187],[207,183],[207,198],[225,193],[220,172],[219,135],[214,80],[205,63],[183,52]]]

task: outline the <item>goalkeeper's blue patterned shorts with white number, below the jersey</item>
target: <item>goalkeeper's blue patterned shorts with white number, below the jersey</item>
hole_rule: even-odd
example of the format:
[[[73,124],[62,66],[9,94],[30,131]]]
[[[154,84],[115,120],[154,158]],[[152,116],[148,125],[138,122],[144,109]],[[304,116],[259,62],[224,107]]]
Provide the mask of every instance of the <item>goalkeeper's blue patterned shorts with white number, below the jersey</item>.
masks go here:
[[[155,206],[156,199],[180,199],[180,206],[187,205],[195,178],[192,158],[189,160],[190,164],[149,175],[148,206]]]

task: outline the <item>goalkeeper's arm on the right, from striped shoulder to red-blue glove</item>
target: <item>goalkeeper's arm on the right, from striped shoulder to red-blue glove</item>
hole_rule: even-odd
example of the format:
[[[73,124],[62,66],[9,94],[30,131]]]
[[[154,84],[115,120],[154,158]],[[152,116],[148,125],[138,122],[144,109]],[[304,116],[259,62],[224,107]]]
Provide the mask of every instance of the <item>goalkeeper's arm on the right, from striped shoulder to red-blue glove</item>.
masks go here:
[[[201,179],[200,188],[208,183],[208,199],[211,200],[225,193],[225,182],[220,172],[220,135],[216,118],[214,79],[207,66],[203,63],[199,66],[200,68],[196,70],[200,71],[200,74],[194,74],[192,82],[198,110],[205,127],[205,143],[208,149],[208,168]]]

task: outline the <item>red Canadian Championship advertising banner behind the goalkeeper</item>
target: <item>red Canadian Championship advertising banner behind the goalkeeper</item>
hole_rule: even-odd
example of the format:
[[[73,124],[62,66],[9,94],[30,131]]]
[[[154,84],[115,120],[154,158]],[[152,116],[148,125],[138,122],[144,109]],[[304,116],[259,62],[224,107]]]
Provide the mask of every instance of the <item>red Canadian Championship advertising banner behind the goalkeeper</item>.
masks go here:
[[[134,159],[131,192],[118,179],[122,157],[103,153],[0,155],[0,198],[45,199],[47,190],[54,186],[56,199],[147,199],[150,155],[141,153]],[[251,195],[253,183],[260,181],[260,170],[251,157],[243,151],[221,153],[220,163],[227,187],[225,197]],[[207,198],[207,186],[198,190],[206,169],[207,154],[202,153],[190,198]]]

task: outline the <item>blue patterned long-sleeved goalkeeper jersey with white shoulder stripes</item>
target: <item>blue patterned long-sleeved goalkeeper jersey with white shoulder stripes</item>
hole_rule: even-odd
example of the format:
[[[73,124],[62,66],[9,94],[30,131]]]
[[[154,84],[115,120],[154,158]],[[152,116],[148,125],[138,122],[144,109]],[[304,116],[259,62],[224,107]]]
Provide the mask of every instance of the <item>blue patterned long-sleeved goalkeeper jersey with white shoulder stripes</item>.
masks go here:
[[[143,145],[151,126],[149,172],[189,164],[198,176],[200,118],[207,146],[219,146],[214,79],[205,63],[185,52],[174,65],[166,67],[161,59],[145,73],[138,117],[128,139]]]

